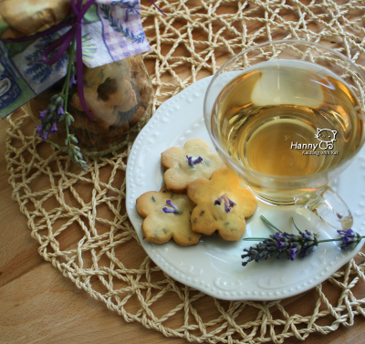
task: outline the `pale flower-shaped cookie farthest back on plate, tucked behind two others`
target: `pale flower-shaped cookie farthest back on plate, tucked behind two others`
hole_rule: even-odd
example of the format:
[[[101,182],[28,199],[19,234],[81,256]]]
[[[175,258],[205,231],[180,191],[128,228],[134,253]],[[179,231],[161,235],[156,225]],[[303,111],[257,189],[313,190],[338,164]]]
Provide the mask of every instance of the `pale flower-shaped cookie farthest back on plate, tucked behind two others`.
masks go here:
[[[166,169],[163,179],[168,190],[186,193],[186,185],[197,178],[209,179],[212,173],[224,167],[217,153],[202,139],[186,141],[183,148],[172,147],[163,151],[162,166]]]

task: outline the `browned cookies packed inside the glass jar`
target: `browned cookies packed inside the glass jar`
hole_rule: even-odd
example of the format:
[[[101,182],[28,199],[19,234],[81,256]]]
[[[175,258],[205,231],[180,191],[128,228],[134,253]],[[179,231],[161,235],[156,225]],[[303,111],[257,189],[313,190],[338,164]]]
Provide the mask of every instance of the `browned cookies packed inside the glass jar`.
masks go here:
[[[111,141],[132,128],[145,113],[151,86],[142,65],[126,58],[97,68],[84,68],[84,97],[95,120],[89,120],[78,92],[70,101],[77,136],[86,146]],[[105,142],[104,142],[105,143]]]

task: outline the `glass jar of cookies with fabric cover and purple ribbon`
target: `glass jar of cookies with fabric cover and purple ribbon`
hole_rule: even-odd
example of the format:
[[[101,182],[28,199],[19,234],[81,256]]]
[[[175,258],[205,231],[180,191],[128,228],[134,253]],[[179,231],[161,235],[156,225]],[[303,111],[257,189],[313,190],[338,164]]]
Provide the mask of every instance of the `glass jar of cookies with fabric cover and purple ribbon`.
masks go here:
[[[30,100],[23,108],[37,124],[39,112],[47,109],[53,95],[62,91],[65,78]],[[84,65],[84,96],[96,120],[90,120],[78,99],[77,85],[68,94],[68,112],[74,121],[69,132],[78,139],[85,156],[99,156],[133,141],[151,117],[151,78],[141,55],[87,68]],[[57,133],[48,140],[65,145],[66,124],[57,122]]]

